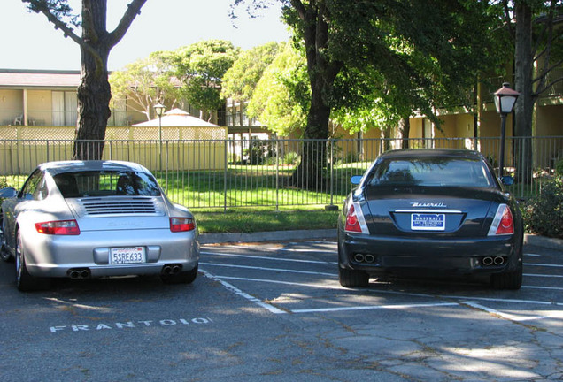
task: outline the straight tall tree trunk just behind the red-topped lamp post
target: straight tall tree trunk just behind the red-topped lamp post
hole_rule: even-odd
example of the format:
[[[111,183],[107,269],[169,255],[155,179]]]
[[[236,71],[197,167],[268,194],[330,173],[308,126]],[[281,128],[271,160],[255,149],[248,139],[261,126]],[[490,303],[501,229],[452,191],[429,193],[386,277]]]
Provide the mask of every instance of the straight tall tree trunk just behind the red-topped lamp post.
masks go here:
[[[532,180],[532,118],[534,113],[532,50],[533,10],[525,1],[514,2],[516,17],[515,39],[515,88],[520,92],[514,111],[514,153],[516,159],[517,180]]]

